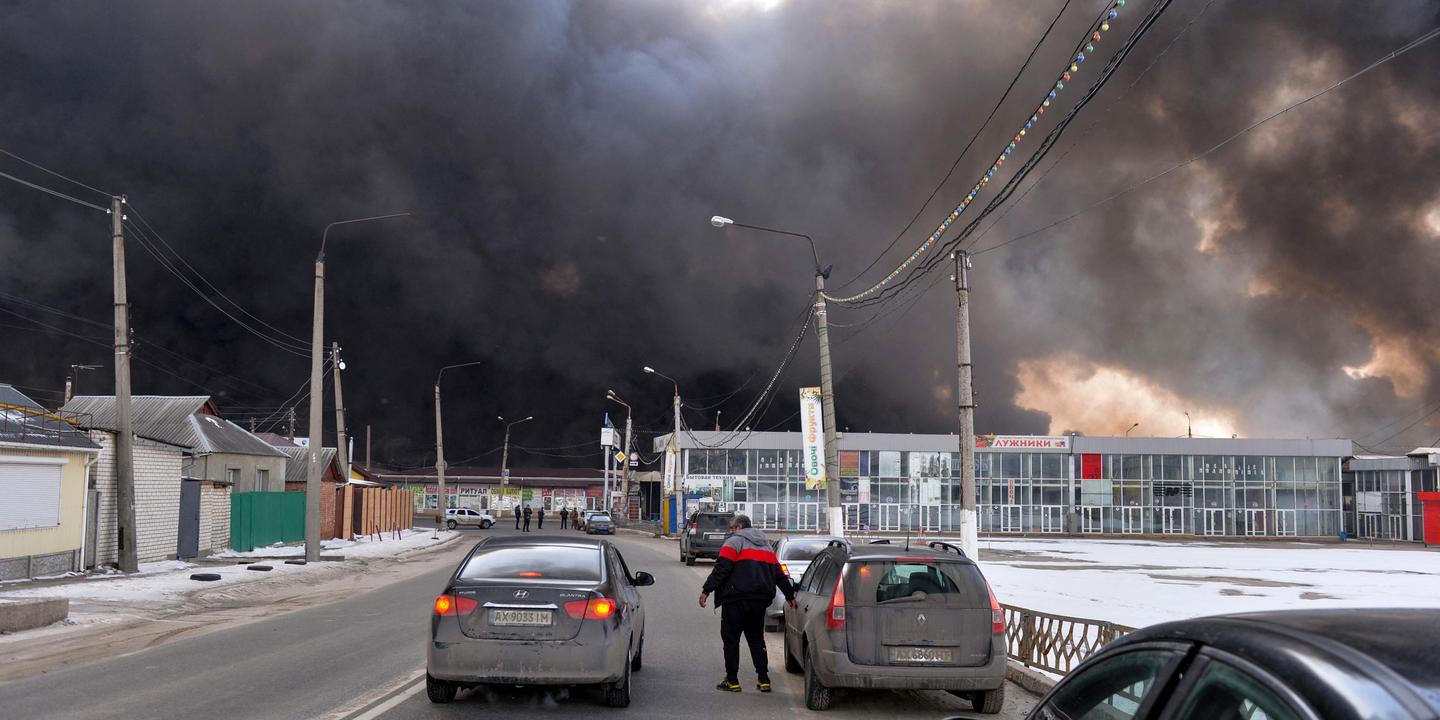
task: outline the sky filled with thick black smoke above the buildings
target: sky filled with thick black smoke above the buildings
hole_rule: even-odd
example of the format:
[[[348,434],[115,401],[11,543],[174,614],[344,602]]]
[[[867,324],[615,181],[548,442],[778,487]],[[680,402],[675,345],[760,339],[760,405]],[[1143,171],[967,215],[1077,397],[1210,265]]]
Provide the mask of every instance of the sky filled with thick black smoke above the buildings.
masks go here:
[[[436,370],[482,360],[445,377],[452,462],[500,445],[495,415],[534,415],[516,442],[563,449],[517,462],[589,465],[606,387],[644,431],[668,426],[670,395],[645,364],[681,382],[691,425],[737,419],[799,330],[804,242],[716,230],[711,215],[809,233],[832,284],[850,281],[1060,4],[6,3],[0,148],[125,193],[219,292],[305,340],[325,223],[415,212],[331,233],[325,338],[344,347],[351,428],[374,426],[377,459],[431,462]],[[1071,3],[955,181],[845,289],[923,240],[1102,6]],[[1113,39],[1149,6],[1132,0]],[[1056,170],[976,246],[1182,161],[1436,24],[1424,0],[1176,0]],[[978,256],[979,429],[1178,435],[1189,410],[1197,433],[1431,444],[1437,66],[1440,42],[1421,46]],[[0,171],[104,202],[13,158]],[[0,183],[0,382],[52,400],[68,364],[101,363],[79,392],[111,392],[108,251],[102,213]],[[128,271],[137,393],[212,393],[243,422],[307,379],[305,359],[204,304],[135,239]],[[940,278],[877,320],[832,308],[841,428],[955,428],[953,307]],[[798,425],[815,357],[809,337],[756,426]]]

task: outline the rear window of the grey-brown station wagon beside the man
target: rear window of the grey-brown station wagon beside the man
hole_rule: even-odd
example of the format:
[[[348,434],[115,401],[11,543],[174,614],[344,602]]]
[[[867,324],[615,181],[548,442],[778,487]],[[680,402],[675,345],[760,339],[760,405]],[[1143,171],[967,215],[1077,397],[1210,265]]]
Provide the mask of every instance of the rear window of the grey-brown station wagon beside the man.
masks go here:
[[[881,603],[916,596],[946,600],[963,608],[989,608],[989,590],[979,569],[968,563],[930,559],[868,560],[850,573],[858,603]],[[847,600],[851,593],[847,589]]]

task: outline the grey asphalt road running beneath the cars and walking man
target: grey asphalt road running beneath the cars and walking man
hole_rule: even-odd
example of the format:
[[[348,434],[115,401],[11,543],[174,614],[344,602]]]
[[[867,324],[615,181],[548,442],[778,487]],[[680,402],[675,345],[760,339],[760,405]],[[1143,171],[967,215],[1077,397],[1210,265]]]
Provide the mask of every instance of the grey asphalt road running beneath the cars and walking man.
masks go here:
[[[550,530],[550,528],[547,528]],[[488,533],[514,533],[504,524]],[[480,534],[477,531],[474,534]],[[461,541],[436,553],[413,577],[285,615],[181,638],[141,652],[99,660],[29,680],[0,684],[0,716],[60,720],[147,719],[412,719],[503,713],[507,720],[557,714],[619,713],[631,719],[711,717],[742,713],[747,720],[811,714],[798,675],[780,664],[780,635],[770,634],[775,693],[755,691],[742,661],[740,694],[721,694],[720,619],[696,605],[710,566],[685,567],[674,543],[615,537],[634,570],[655,575],[645,588],[645,670],[635,675],[632,704],[605,708],[586,691],[465,691],[449,706],[425,698],[425,631],[435,593],[468,550]],[[1008,688],[1007,711],[1022,717],[1034,698]],[[847,693],[832,717],[924,717],[968,713],[969,704],[945,693]]]

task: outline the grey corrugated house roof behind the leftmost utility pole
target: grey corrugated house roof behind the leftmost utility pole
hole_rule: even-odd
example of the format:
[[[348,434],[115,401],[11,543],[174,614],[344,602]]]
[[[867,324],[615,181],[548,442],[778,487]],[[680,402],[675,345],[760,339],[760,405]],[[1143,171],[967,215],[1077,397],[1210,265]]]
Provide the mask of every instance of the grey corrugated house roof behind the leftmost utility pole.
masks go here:
[[[180,445],[199,454],[226,452],[268,458],[284,455],[245,428],[220,418],[215,403],[204,395],[177,397],[137,395],[131,397],[130,408],[131,426],[135,435],[143,438]],[[115,432],[112,395],[82,395],[65,403],[65,412],[85,416],[92,429]]]

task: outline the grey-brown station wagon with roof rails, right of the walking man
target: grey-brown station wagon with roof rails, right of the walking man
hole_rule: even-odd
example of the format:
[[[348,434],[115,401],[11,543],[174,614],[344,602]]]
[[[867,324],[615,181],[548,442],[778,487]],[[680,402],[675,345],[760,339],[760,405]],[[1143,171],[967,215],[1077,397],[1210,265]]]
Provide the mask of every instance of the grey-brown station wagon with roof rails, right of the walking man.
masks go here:
[[[948,690],[981,713],[1005,703],[1005,613],[959,547],[832,541],[785,608],[785,670],[805,707],[831,688]]]

